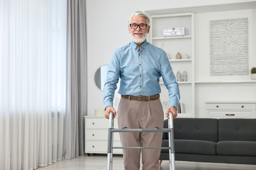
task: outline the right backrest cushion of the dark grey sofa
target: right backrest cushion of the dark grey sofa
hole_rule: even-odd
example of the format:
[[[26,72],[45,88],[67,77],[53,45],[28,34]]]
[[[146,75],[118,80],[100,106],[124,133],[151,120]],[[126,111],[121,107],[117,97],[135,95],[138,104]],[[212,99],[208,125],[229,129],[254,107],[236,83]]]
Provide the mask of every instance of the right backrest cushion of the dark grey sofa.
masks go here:
[[[219,141],[256,142],[256,119],[219,119]]]

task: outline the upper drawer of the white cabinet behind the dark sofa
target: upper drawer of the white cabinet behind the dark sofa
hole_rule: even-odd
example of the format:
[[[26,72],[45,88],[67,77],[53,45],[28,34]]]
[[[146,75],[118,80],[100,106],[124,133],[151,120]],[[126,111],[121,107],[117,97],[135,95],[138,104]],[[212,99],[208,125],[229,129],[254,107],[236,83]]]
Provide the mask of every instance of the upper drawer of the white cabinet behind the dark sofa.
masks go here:
[[[255,110],[255,103],[206,103],[206,109]]]

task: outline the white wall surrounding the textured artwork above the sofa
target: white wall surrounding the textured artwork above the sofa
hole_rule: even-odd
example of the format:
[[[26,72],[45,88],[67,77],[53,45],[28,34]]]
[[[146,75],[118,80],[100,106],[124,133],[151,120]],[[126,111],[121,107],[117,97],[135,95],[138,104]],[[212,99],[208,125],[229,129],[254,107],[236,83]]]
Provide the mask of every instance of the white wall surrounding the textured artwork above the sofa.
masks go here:
[[[232,18],[248,18],[248,44],[255,44],[255,9],[249,10],[230,10],[223,12],[207,12],[195,15],[195,40],[196,40],[196,81],[218,81],[218,80],[248,80],[246,76],[210,76],[210,20],[224,20]],[[249,46],[249,68],[255,63],[255,56],[252,46]]]

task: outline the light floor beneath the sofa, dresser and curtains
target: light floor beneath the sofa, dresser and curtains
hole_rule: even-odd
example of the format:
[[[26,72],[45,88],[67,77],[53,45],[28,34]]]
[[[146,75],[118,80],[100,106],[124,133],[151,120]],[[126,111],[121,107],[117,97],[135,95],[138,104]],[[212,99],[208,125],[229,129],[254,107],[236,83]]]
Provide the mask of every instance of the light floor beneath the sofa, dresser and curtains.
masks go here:
[[[47,167],[39,167],[39,170],[106,170],[106,155],[79,156],[72,160],[62,160]],[[238,165],[227,163],[198,163],[188,161],[176,161],[176,170],[255,170],[256,165]],[[114,156],[113,170],[123,170],[123,158]],[[169,170],[169,161],[163,161],[161,170]]]

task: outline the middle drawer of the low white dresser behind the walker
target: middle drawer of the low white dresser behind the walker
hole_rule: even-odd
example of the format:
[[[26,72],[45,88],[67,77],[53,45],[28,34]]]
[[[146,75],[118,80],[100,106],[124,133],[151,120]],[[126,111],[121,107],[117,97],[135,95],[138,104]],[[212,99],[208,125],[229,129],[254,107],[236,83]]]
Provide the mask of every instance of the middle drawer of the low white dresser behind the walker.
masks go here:
[[[104,141],[104,140],[108,140],[108,130],[104,130],[104,129],[87,129],[87,131],[85,132],[86,134],[86,140],[99,140],[99,141]],[[119,138],[119,133],[115,132],[114,133],[114,141],[120,141]]]

